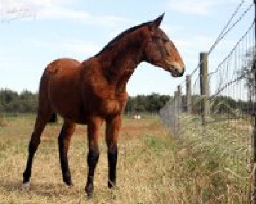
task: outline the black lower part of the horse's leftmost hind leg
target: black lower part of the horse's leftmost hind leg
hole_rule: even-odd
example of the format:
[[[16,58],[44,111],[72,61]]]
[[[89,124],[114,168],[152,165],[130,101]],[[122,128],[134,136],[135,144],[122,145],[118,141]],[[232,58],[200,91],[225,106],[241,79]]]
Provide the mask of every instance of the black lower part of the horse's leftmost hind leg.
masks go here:
[[[38,144],[39,142],[36,144],[34,144],[32,141],[29,142],[29,156],[26,164],[26,169],[23,173],[23,183],[29,182],[29,179],[31,177],[33,158],[37,150]]]

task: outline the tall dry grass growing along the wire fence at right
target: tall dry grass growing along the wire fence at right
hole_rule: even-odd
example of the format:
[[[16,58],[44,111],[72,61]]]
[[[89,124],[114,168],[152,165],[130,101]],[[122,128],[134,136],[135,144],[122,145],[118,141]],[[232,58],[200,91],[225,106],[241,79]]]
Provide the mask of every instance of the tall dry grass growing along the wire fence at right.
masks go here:
[[[180,124],[179,141],[195,159],[193,172],[200,170],[195,185],[203,187],[204,201],[253,203],[252,122],[217,120],[203,127],[200,117],[183,114]]]

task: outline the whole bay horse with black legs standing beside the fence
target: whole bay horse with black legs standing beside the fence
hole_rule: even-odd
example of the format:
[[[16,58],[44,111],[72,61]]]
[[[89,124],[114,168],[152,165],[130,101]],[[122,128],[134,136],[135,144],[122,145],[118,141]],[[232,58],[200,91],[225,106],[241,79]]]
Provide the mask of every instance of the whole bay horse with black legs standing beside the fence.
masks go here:
[[[34,154],[44,127],[54,113],[64,118],[58,136],[63,181],[67,185],[72,184],[67,152],[76,124],[87,125],[89,151],[85,191],[89,197],[92,195],[94,171],[99,159],[100,127],[105,120],[108,187],[115,186],[118,134],[128,99],[126,85],[135,68],[145,61],[163,68],[173,77],[181,77],[185,71],[175,45],[159,28],[163,15],[122,32],[98,54],[83,62],[56,59],[45,68],[39,87],[35,127],[23,173],[24,187],[29,187]]]

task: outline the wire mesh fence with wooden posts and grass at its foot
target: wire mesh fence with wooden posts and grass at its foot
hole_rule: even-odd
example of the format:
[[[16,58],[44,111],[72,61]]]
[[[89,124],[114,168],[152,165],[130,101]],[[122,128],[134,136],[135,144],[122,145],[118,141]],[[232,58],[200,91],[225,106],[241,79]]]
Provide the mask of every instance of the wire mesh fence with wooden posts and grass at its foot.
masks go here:
[[[209,177],[222,182],[211,183],[215,201],[255,203],[255,20],[220,62],[212,63],[211,58],[235,23],[225,26],[209,52],[200,53],[198,66],[177,87],[160,117],[172,136],[200,152],[201,165],[213,162]]]

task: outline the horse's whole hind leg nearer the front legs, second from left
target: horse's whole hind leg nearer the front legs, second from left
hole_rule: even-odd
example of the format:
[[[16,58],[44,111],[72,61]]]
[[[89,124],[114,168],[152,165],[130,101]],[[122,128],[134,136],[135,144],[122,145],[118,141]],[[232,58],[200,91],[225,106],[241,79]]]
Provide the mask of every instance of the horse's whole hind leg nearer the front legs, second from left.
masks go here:
[[[68,166],[67,152],[70,144],[70,139],[75,131],[75,128],[76,123],[73,123],[70,120],[65,119],[64,125],[62,126],[61,132],[58,137],[61,171],[63,181],[67,185],[72,184],[70,170]]]

